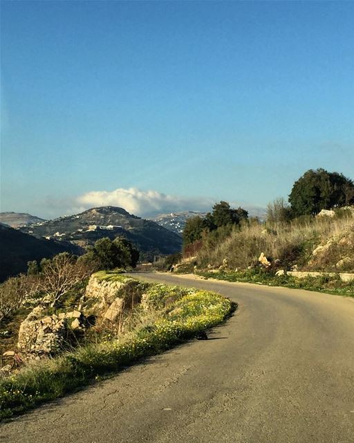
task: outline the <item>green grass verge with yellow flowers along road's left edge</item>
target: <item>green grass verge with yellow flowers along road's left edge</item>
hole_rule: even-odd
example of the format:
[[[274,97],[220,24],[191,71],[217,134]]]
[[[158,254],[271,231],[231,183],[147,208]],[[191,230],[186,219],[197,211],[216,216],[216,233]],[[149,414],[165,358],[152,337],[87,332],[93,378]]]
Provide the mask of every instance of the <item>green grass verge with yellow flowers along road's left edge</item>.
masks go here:
[[[100,278],[111,280],[121,276],[100,273]],[[235,307],[230,300],[209,291],[151,283],[145,283],[144,289],[147,308],[138,308],[140,323],[126,337],[119,341],[105,337],[99,343],[87,343],[57,358],[29,364],[12,377],[2,379],[0,418],[63,397],[142,357],[193,338],[198,332],[222,323]],[[153,321],[144,320],[144,316]]]

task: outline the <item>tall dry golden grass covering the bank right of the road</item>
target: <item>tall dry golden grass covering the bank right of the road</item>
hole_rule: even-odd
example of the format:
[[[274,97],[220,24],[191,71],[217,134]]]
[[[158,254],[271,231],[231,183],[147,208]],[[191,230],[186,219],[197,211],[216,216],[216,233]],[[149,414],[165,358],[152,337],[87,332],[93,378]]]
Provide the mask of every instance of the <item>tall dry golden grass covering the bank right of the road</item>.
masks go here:
[[[312,257],[319,245],[327,246],[323,253]],[[226,258],[230,269],[245,269],[257,262],[261,252],[273,261],[279,259],[286,268],[298,264],[303,269],[333,269],[338,260],[354,257],[354,217],[304,217],[290,223],[254,223],[233,230],[223,239],[209,234],[198,253],[198,264],[218,267]],[[354,271],[354,262],[341,270]]]

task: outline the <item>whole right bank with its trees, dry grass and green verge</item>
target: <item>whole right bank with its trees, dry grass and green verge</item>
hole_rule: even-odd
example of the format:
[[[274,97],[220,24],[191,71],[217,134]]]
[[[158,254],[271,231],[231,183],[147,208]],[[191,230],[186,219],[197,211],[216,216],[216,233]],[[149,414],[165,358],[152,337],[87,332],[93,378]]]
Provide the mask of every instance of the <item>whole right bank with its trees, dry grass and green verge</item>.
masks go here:
[[[187,221],[183,240],[183,258],[166,261],[168,270],[351,295],[353,284],[339,274],[354,273],[354,183],[337,172],[308,170],[289,203],[268,204],[265,220],[221,201],[206,217]],[[326,275],[299,280],[288,271]]]

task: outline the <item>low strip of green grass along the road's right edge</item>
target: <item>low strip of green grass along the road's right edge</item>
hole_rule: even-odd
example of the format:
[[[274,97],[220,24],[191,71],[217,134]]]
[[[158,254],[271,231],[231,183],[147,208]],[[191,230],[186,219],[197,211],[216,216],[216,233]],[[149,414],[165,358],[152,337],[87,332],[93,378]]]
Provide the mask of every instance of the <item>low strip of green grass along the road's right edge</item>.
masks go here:
[[[307,289],[308,291],[317,291],[332,293],[335,295],[354,297],[354,281],[342,282],[339,276],[319,275],[318,277],[296,278],[292,275],[275,275],[274,272],[262,268],[248,269],[245,271],[218,271],[217,273],[209,271],[197,271],[197,275],[204,278],[215,278],[216,280],[225,280],[228,282],[247,282],[256,284],[265,284],[268,286],[283,286],[294,289]]]

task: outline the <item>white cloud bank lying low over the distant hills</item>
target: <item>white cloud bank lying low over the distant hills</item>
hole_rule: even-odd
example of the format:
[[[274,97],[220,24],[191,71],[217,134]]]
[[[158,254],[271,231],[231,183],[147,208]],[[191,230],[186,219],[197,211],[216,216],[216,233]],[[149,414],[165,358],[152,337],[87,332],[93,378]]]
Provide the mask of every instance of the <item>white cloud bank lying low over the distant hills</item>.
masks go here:
[[[168,195],[156,190],[140,190],[138,188],[117,188],[112,191],[92,190],[78,197],[68,199],[50,199],[41,206],[46,210],[46,218],[61,215],[73,215],[97,206],[120,206],[129,213],[140,217],[153,217],[162,213],[178,213],[182,211],[208,212],[220,199],[212,197],[181,197]],[[233,207],[242,206],[250,215],[262,217],[265,209],[262,206],[247,204],[243,201],[230,201]],[[45,207],[45,209],[44,209]]]

